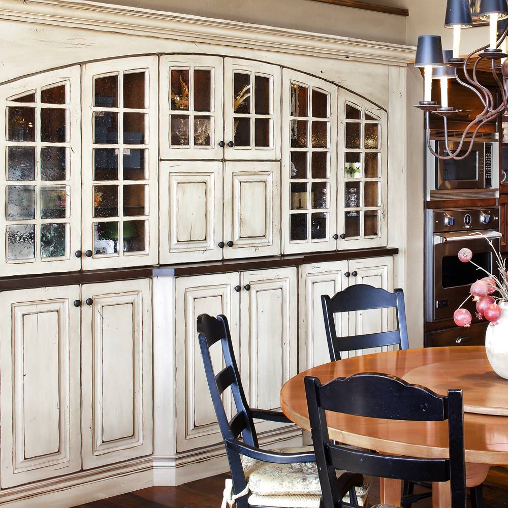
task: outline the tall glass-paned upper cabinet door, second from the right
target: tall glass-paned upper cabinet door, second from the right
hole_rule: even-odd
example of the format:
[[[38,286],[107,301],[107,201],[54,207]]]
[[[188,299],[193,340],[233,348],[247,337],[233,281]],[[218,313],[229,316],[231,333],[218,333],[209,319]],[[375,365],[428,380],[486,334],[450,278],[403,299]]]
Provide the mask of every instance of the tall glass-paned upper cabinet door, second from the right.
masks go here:
[[[284,253],[335,250],[337,87],[282,73]]]

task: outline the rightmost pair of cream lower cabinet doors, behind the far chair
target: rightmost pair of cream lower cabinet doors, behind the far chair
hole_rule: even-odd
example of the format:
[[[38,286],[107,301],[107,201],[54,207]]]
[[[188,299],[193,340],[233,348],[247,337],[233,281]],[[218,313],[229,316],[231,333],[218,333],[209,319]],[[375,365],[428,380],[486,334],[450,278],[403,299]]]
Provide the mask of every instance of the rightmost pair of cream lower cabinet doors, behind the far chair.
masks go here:
[[[325,334],[321,295],[333,296],[352,284],[369,284],[393,291],[393,258],[371,258],[306,264],[300,267],[300,370],[330,361]],[[335,316],[337,336],[388,331],[393,311],[387,309],[348,312]],[[343,358],[376,350],[344,353]]]

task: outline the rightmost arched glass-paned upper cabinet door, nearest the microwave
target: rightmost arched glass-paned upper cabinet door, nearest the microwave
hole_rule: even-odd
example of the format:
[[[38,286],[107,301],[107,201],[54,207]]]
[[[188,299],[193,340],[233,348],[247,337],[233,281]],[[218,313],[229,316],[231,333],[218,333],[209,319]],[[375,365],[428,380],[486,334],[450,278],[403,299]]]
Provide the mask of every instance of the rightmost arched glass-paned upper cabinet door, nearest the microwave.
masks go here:
[[[387,112],[339,90],[339,248],[387,245]]]

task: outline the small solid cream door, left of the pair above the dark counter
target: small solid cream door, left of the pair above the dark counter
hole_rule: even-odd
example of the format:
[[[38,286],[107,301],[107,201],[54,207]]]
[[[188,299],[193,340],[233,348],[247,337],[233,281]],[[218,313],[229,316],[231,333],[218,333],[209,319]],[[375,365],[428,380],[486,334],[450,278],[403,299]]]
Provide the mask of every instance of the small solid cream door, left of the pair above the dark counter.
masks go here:
[[[161,163],[161,264],[221,259],[223,163]]]

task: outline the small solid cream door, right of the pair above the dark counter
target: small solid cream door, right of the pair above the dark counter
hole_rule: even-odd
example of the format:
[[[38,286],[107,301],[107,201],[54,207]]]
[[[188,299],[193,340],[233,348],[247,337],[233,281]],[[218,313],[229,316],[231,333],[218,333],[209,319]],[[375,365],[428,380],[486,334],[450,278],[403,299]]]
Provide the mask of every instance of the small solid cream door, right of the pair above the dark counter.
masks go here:
[[[280,254],[280,163],[227,162],[224,257]]]

